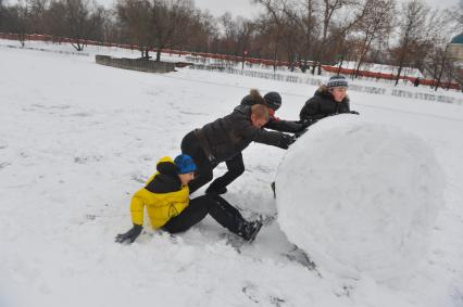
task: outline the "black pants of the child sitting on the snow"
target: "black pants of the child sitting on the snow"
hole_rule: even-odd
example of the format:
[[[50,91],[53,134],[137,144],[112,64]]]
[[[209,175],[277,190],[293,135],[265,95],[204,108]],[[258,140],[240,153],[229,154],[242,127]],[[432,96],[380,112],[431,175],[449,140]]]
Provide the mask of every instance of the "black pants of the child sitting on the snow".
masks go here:
[[[239,210],[218,195],[202,195],[191,200],[179,215],[171,218],[162,228],[170,233],[187,231],[210,214],[220,225],[238,234],[246,225]]]

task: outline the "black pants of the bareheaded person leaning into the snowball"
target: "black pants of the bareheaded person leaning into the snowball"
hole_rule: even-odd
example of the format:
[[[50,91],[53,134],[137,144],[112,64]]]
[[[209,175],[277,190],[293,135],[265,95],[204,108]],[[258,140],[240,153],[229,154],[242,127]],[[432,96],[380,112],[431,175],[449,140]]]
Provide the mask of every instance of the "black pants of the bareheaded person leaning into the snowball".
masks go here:
[[[195,131],[189,132],[182,140],[182,153],[192,157],[197,165],[197,171],[195,172],[195,179],[188,183],[190,193],[208,183],[213,178],[213,169],[217,166],[216,163],[211,163],[205,156],[198,137]],[[227,187],[236,178],[245,172],[245,163],[242,161],[242,154],[239,153],[232,159],[225,162],[228,171],[222,177],[218,177],[211,183],[212,190],[220,190],[221,188]]]

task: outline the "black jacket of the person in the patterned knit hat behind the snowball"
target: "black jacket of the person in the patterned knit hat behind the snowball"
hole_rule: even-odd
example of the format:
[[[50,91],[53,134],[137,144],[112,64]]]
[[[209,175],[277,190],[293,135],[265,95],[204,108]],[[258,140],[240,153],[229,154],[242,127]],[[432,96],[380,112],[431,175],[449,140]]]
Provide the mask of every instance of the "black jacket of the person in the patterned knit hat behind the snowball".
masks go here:
[[[301,120],[321,119],[339,113],[350,113],[349,98],[346,97],[341,102],[337,102],[326,86],[321,86],[314,97],[305,102],[299,118]]]

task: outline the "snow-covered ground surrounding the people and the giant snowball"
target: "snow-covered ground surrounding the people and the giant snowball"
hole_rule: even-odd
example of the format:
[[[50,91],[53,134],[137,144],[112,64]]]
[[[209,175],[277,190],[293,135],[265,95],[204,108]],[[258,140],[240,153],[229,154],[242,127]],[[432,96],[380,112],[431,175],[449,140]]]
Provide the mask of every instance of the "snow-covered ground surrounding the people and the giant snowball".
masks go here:
[[[225,194],[246,217],[268,217],[254,243],[227,244],[209,217],[182,235],[146,227],[134,244],[114,243],[130,227],[130,195],[187,132],[232,112],[250,88],[279,91],[277,115],[296,119],[315,87],[10,48],[0,48],[0,72],[1,307],[463,306],[462,105],[350,92],[362,118],[420,137],[445,176],[427,252],[390,284],[312,267],[272,220],[270,183],[286,152],[254,143]]]

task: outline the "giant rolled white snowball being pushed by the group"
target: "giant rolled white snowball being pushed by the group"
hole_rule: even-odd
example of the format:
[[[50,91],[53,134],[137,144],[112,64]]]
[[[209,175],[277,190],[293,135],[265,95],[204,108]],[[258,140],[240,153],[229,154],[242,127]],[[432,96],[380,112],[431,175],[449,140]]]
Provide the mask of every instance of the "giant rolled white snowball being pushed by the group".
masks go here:
[[[424,141],[359,116],[334,116],[312,126],[279,165],[278,222],[326,270],[397,279],[423,258],[442,189]]]

